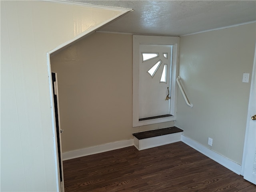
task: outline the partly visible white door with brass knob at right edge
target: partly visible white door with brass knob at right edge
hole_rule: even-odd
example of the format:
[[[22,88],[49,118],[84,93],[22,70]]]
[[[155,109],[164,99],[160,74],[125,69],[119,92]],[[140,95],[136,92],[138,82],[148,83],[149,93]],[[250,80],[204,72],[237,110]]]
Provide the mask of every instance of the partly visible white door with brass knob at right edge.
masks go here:
[[[243,174],[244,179],[256,184],[256,50],[254,55],[254,66],[252,70],[252,83],[248,106],[246,135],[244,141]]]

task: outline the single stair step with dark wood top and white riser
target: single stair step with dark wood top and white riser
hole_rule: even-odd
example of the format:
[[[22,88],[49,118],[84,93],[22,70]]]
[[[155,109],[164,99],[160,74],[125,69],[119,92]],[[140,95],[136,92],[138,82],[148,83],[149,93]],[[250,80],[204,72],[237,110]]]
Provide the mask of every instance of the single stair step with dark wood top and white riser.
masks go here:
[[[140,133],[133,133],[134,146],[138,150],[161,146],[181,141],[183,130],[178,127],[168,127]]]

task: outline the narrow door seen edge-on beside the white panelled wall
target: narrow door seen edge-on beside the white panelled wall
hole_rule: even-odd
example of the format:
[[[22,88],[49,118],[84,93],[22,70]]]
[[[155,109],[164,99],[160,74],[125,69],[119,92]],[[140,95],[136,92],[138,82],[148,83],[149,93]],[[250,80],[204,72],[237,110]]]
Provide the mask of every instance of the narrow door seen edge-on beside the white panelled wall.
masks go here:
[[[60,108],[59,108],[59,97],[58,97],[57,73],[52,73],[52,87],[53,87],[53,97],[54,97],[56,136],[57,136],[57,145],[58,145],[60,190],[61,192],[64,192],[63,162],[62,162],[62,147],[61,147],[62,129],[60,129]]]

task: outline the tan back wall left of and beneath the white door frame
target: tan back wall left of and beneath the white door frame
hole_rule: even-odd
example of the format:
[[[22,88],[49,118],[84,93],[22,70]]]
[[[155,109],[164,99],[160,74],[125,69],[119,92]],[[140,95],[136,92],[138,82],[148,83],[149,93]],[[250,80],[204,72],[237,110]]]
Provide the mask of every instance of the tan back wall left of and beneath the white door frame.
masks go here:
[[[132,35],[94,33],[51,57],[58,75],[63,152],[132,139]]]

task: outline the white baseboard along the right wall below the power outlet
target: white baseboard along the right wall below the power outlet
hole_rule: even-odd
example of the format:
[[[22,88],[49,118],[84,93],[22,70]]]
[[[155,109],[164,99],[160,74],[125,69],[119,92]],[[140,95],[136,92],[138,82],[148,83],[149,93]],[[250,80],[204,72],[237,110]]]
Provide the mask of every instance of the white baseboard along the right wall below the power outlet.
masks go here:
[[[223,165],[224,167],[228,168],[229,170],[235,172],[236,174],[241,174],[241,165],[233,162],[232,160],[208,149],[204,145],[197,143],[196,141],[182,135],[181,141],[183,143],[186,143],[187,145],[191,146],[195,150],[199,151],[200,153],[204,154],[205,156],[208,156],[212,160],[218,162],[219,164]]]

